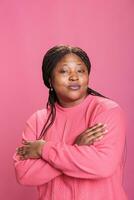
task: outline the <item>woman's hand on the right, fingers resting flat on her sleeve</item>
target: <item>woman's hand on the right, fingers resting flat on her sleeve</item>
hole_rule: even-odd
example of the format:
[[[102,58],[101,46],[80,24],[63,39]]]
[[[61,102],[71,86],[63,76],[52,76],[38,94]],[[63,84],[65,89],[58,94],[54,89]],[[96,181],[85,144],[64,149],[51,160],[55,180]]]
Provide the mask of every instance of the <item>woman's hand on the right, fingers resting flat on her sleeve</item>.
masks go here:
[[[105,124],[96,124],[84,132],[82,132],[75,140],[74,144],[77,145],[91,145],[95,141],[101,140],[104,135],[107,133]]]

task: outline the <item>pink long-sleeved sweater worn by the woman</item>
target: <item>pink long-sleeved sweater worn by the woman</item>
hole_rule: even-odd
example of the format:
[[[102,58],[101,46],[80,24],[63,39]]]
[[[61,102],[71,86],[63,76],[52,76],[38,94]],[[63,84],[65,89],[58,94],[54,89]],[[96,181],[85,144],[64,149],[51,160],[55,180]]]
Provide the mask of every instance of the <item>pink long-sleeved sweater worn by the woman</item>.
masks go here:
[[[36,140],[50,109],[35,112],[23,138]],[[90,146],[73,145],[75,138],[96,123],[108,132]],[[126,200],[122,186],[125,118],[112,100],[88,95],[70,108],[56,103],[56,119],[45,138],[41,159],[19,160],[14,155],[20,184],[37,186],[39,200]]]

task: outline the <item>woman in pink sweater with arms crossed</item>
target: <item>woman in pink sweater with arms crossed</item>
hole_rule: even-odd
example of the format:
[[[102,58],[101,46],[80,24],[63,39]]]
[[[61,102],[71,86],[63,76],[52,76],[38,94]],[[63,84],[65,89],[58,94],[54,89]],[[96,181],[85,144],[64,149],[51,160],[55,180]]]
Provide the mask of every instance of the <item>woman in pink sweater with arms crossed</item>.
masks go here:
[[[91,64],[59,45],[43,59],[47,107],[26,122],[14,155],[20,184],[39,200],[126,200],[122,186],[125,119],[120,106],[88,88]]]

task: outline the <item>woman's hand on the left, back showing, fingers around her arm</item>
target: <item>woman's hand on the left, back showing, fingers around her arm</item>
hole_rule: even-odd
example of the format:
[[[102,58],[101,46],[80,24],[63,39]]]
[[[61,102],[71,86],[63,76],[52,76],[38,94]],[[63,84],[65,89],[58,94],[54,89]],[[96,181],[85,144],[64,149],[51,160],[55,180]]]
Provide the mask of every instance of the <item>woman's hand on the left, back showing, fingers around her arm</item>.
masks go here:
[[[41,158],[41,151],[45,143],[46,141],[44,140],[23,140],[23,146],[17,148],[17,154],[20,156],[21,160],[26,160],[30,158],[39,159]]]

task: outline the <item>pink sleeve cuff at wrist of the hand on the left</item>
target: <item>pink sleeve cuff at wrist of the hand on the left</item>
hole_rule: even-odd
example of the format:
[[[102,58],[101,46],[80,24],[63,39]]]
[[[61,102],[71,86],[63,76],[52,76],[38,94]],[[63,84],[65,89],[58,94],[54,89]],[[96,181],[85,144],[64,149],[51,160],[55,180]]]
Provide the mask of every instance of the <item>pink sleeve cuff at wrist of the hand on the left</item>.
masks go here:
[[[50,150],[53,145],[55,145],[55,143],[51,142],[51,141],[45,143],[45,145],[42,148],[42,152],[41,152],[42,159],[49,161],[49,154],[50,154]]]

